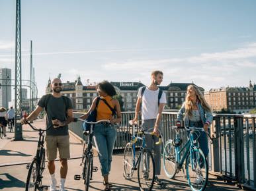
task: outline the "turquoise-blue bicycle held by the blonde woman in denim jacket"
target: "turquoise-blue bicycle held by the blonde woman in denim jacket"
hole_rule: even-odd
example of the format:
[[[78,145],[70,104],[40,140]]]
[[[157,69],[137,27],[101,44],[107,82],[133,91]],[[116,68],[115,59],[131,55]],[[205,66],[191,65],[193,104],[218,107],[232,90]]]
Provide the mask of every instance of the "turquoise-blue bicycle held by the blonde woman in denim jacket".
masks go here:
[[[163,168],[168,178],[174,178],[177,173],[183,170],[183,163],[186,159],[186,173],[188,184],[191,190],[201,191],[206,188],[208,182],[208,163],[204,153],[199,147],[198,138],[204,128],[172,126],[176,135],[174,140],[167,140],[163,149]],[[180,149],[182,140],[178,130],[189,131],[189,139]],[[194,139],[194,135],[196,138]],[[210,137],[209,133],[207,132]],[[211,144],[212,138],[210,137]],[[181,157],[182,155],[182,157]]]

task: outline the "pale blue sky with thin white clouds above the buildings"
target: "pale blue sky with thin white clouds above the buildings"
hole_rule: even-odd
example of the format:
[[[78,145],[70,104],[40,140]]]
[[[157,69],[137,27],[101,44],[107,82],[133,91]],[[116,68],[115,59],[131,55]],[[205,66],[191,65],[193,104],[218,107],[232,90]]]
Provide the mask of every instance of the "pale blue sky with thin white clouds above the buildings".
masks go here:
[[[142,81],[205,90],[256,82],[256,1],[21,0],[22,77],[29,41],[39,95],[49,76],[83,84]],[[0,0],[0,67],[15,66],[15,0]]]

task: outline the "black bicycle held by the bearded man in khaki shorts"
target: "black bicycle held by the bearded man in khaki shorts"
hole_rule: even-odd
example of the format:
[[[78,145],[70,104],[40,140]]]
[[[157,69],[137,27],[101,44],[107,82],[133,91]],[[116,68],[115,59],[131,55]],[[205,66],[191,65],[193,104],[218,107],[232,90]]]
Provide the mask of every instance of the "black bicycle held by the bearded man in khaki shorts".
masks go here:
[[[26,191],[48,190],[48,186],[42,185],[42,173],[45,169],[46,153],[44,148],[44,132],[49,130],[52,125],[43,130],[41,128],[35,128],[28,122],[26,122],[26,124],[28,124],[33,130],[38,131],[39,134],[36,156],[30,164],[26,165],[26,169],[28,169],[28,177],[26,178]]]

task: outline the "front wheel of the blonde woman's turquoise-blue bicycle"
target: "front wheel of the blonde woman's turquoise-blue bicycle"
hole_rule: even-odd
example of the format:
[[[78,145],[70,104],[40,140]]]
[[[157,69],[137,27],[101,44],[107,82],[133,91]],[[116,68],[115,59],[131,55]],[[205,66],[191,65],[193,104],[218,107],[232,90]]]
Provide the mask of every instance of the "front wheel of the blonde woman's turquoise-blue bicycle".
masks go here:
[[[208,182],[208,163],[200,148],[192,148],[186,159],[187,179],[191,190],[201,191]]]

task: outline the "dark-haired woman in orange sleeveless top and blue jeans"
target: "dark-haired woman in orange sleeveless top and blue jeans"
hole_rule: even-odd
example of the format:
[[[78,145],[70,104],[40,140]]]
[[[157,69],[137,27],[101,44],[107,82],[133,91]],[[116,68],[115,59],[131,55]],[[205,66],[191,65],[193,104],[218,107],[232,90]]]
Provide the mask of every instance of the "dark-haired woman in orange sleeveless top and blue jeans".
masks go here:
[[[101,163],[101,173],[103,175],[103,184],[105,184],[105,190],[110,190],[110,184],[108,182],[108,175],[110,173],[110,167],[112,162],[112,152],[114,148],[114,142],[116,140],[116,123],[121,122],[121,111],[118,100],[112,99],[112,96],[116,95],[116,90],[112,84],[107,81],[103,81],[97,84],[97,92],[99,97],[99,104],[97,106],[97,121],[107,119],[110,123],[98,123],[94,127],[94,141],[99,153],[99,161]],[[105,99],[105,100],[104,100]],[[87,119],[89,113],[96,107],[97,97],[93,100],[93,104],[89,111],[79,117],[80,119]],[[106,103],[107,102],[107,103]],[[112,109],[116,111],[116,118],[112,115]]]

